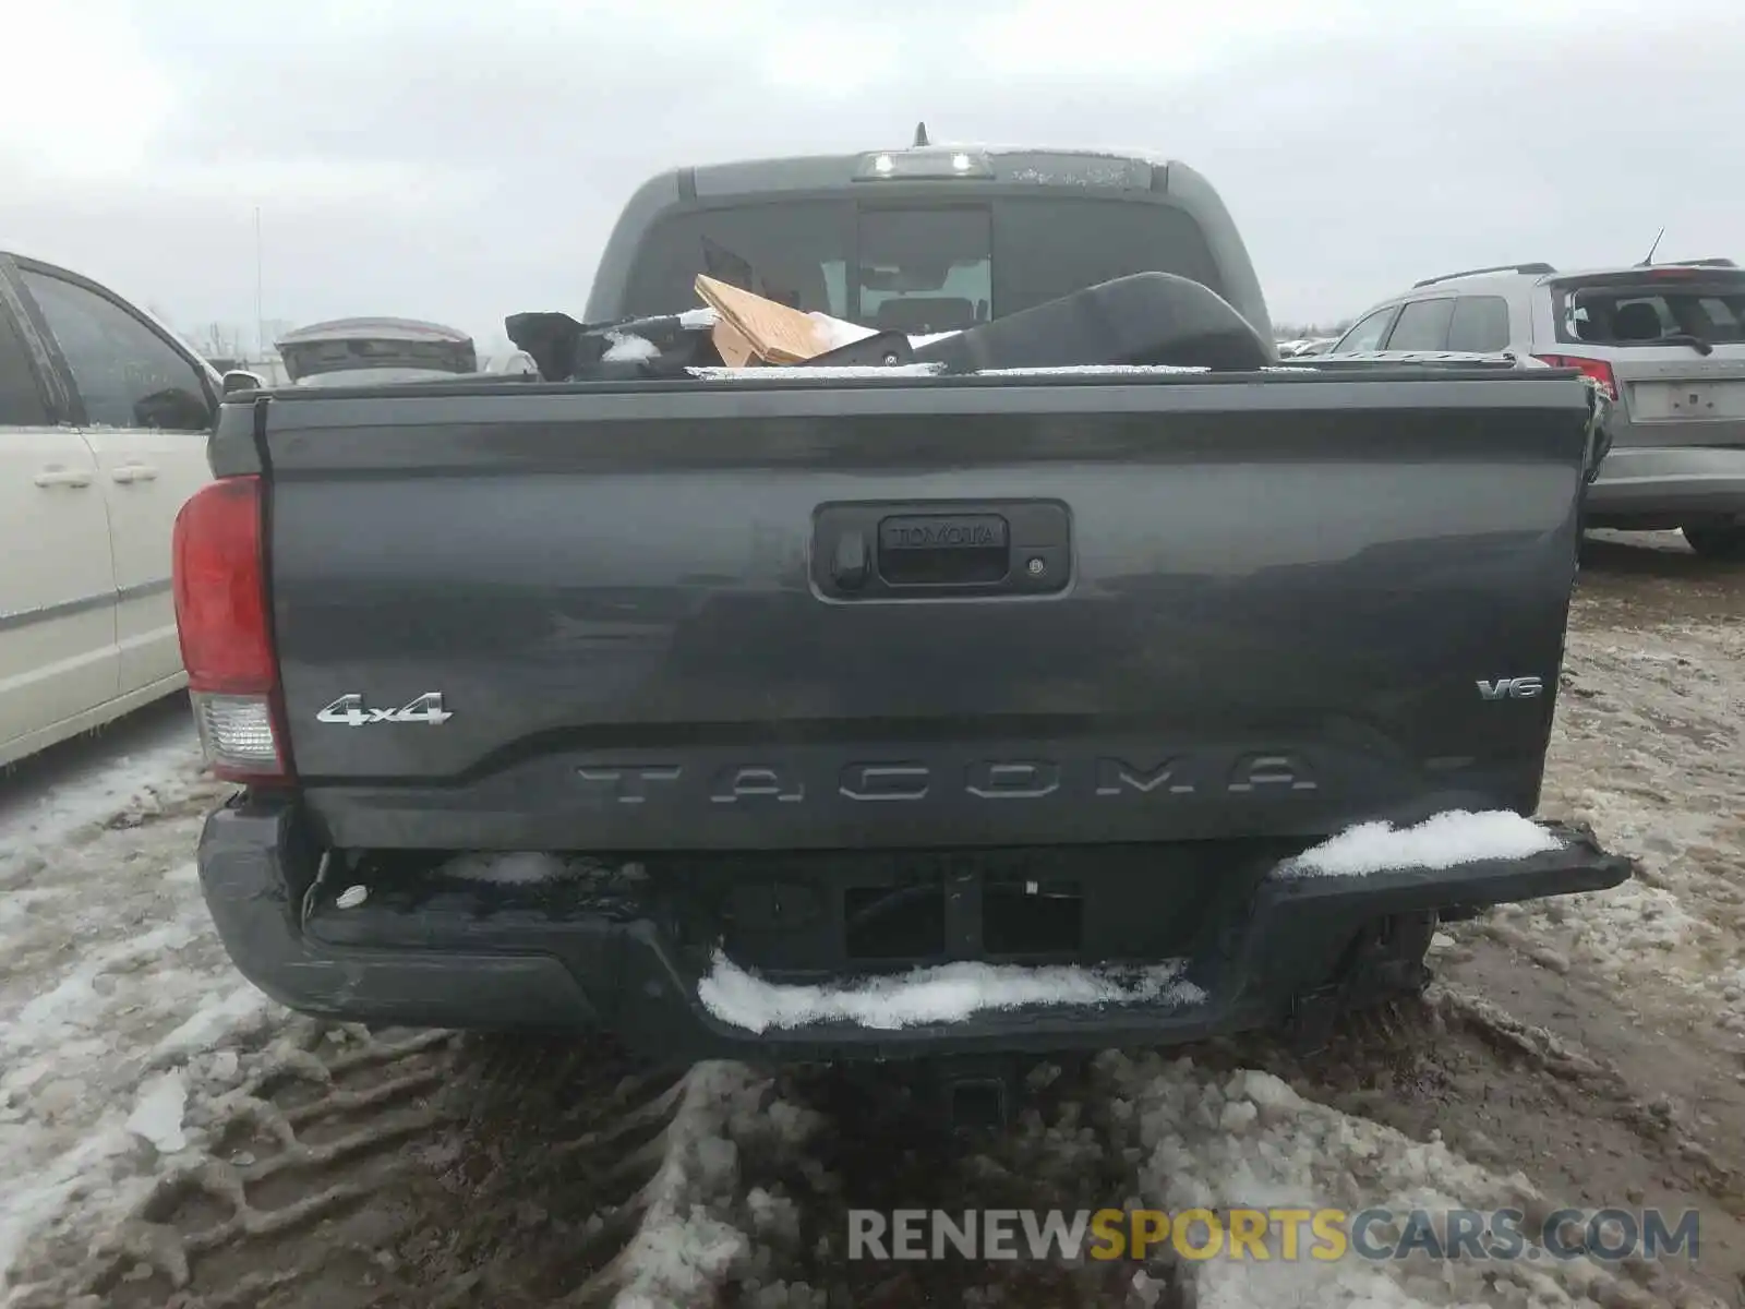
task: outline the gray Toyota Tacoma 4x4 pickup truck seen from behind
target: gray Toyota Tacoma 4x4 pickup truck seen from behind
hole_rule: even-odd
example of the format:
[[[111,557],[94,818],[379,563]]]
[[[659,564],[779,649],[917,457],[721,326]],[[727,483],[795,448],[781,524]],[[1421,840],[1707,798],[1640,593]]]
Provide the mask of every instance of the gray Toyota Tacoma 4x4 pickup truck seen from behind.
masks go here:
[[[1164,271],[1270,342],[1159,161],[670,173],[588,318],[733,260],[921,333]],[[232,396],[176,529],[243,784],[206,901],[263,991],[368,1023],[771,1061],[1312,1031],[1420,984],[1438,918],[1630,873],[1530,819],[1595,403],[1461,358]]]

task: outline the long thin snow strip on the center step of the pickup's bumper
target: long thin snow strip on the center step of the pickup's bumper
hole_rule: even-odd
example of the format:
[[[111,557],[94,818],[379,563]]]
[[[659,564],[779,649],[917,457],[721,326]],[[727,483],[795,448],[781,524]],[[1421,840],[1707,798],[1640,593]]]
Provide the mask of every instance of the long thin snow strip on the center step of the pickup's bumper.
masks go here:
[[[967,962],[845,984],[797,986],[768,983],[715,951],[714,967],[698,983],[696,995],[717,1019],[749,1031],[808,1023],[853,1023],[886,1031],[958,1023],[988,1009],[1199,1004],[1206,991],[1185,981],[1185,970],[1183,960],[1126,972]]]

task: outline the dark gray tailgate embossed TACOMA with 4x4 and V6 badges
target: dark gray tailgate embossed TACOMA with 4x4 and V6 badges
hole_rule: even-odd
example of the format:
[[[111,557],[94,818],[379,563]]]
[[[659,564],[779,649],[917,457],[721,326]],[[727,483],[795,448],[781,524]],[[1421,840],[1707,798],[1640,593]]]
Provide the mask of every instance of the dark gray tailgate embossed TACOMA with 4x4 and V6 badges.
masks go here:
[[[1537,801],[1567,375],[260,403],[291,756],[335,845],[1319,836]]]

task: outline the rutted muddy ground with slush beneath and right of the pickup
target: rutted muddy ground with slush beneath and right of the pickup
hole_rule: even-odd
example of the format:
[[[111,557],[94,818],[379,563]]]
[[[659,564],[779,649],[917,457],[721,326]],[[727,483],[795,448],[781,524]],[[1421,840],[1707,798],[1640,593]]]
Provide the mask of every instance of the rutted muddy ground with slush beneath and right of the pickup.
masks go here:
[[[1422,1002],[1314,1056],[1260,1037],[1110,1056],[1038,1075],[1007,1131],[965,1143],[897,1084],[675,1080],[599,1045],[257,1023],[190,1059],[215,1087],[188,1101],[204,1148],[127,1222],[38,1236],[19,1304],[1745,1304],[1742,677],[1745,569],[1673,536],[1591,541],[1543,812],[1593,824],[1639,878],[1448,925]],[[140,819],[159,820],[192,822]],[[1242,1112],[1204,1127],[1208,1100]],[[1180,1204],[1185,1176],[1232,1203],[1260,1161],[1331,1199],[1696,1206],[1701,1253],[1386,1288],[841,1258],[848,1204]]]

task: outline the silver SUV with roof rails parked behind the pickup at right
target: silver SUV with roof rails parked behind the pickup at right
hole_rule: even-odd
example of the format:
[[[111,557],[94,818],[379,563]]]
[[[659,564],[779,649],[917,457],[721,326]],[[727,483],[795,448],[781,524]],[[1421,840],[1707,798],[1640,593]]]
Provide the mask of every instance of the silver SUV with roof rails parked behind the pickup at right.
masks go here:
[[[1616,401],[1586,525],[1679,527],[1700,555],[1745,559],[1745,271],[1733,260],[1426,278],[1330,354],[1368,351],[1509,351],[1579,368]]]

